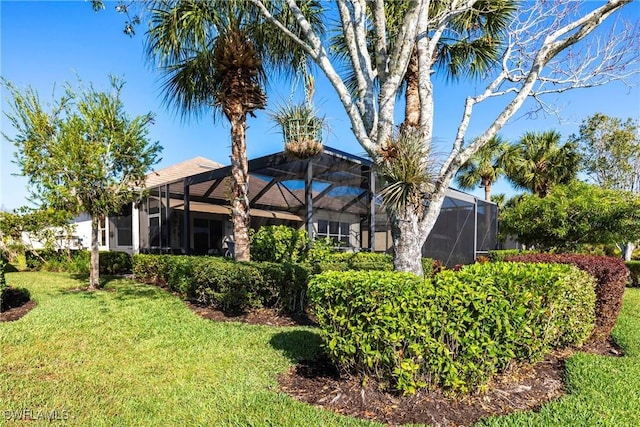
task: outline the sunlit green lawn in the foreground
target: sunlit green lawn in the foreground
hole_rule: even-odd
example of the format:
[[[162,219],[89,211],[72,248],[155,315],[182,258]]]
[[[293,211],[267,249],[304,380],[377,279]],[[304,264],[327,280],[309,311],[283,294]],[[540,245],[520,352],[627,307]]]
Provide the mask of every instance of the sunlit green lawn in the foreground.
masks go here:
[[[0,425],[23,409],[68,415],[67,425],[372,424],[277,391],[279,373],[318,351],[313,329],[204,320],[167,292],[128,280],[92,294],[70,291],[81,283],[64,274],[7,280],[38,306],[0,324]],[[572,394],[480,425],[640,425],[639,309],[640,290],[628,290],[615,329],[626,357],[576,355]]]

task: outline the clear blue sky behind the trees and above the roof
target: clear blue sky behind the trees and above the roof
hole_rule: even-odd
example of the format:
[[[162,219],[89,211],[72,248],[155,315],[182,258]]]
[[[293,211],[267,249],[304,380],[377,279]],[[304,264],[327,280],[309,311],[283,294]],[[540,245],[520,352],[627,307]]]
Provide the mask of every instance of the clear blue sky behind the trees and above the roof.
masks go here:
[[[61,94],[64,82],[75,82],[76,75],[97,87],[107,87],[109,74],[123,76],[127,84],[123,91],[125,108],[131,115],[152,111],[156,114],[150,137],[164,147],[161,168],[195,156],[204,156],[223,164],[229,163],[229,126],[224,120],[214,123],[212,117],[184,122],[161,103],[162,93],[158,73],[145,60],[143,29],[129,38],[122,33],[125,18],[114,12],[115,2],[107,2],[107,10],[94,13],[85,1],[0,1],[0,75],[20,87],[32,86],[42,100],[51,99],[54,87]],[[628,17],[640,16],[640,2],[624,11]],[[297,93],[301,91],[298,84]],[[289,99],[292,84],[277,82],[268,89],[267,110]],[[316,77],[316,104],[326,115],[331,128],[325,144],[354,154],[364,150],[350,132],[349,120],[333,89],[321,76]],[[294,88],[294,89],[295,89]],[[434,136],[444,150],[461,117],[464,97],[481,89],[479,83],[439,82],[436,87]],[[6,110],[6,92],[2,92],[2,110]],[[525,131],[556,129],[563,137],[577,131],[580,121],[596,112],[614,117],[640,117],[640,90],[613,83],[602,88],[577,90],[547,98],[562,111],[562,123],[556,117],[518,119],[503,128],[501,134],[515,140]],[[477,135],[495,115],[496,104],[479,108],[472,120],[468,136]],[[258,111],[249,118],[247,150],[249,158],[282,150],[282,139],[267,111]],[[2,115],[3,133],[13,130]],[[26,203],[26,179],[16,177],[12,164],[13,146],[2,140],[0,208],[14,209]],[[513,190],[499,182],[494,192]],[[481,196],[482,189],[474,191]]]

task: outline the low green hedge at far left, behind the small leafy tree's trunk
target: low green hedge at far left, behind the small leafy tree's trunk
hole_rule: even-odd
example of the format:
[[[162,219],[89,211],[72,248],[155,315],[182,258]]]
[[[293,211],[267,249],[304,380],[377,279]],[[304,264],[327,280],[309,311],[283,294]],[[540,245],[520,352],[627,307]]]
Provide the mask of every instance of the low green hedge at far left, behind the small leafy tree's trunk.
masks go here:
[[[58,271],[89,274],[91,252],[71,250],[37,250],[25,253],[29,270]],[[99,253],[100,274],[114,275],[131,273],[131,255],[126,252],[101,251]]]

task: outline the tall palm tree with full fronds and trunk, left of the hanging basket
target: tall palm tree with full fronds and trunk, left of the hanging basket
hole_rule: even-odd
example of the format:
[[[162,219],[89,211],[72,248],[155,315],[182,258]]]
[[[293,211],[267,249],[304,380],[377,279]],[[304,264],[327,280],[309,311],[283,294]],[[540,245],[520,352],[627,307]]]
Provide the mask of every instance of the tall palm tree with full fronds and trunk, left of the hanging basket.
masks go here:
[[[322,9],[316,0],[303,11],[320,33]],[[183,117],[213,111],[231,124],[234,257],[249,261],[248,160],[246,119],[266,106],[265,68],[291,75],[306,65],[297,44],[274,31],[248,2],[238,0],[158,0],[149,2],[147,55],[164,78],[165,103]],[[298,33],[293,16],[279,18]],[[282,72],[272,73],[282,75]]]

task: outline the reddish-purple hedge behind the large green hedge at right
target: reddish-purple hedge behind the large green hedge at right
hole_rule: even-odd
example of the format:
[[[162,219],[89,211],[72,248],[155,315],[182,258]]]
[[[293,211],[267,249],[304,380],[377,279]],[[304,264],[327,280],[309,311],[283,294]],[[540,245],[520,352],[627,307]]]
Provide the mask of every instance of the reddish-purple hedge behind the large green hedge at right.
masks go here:
[[[505,261],[572,264],[591,274],[596,285],[596,321],[592,339],[607,340],[618,319],[628,270],[620,258],[580,254],[523,254]]]

